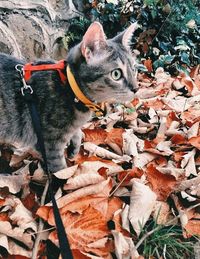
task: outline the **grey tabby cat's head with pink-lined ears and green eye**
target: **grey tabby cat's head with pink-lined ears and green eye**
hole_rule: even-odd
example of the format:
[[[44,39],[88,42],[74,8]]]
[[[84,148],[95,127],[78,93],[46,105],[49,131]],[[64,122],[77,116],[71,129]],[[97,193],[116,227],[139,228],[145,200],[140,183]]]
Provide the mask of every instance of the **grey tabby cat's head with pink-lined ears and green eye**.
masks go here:
[[[68,55],[74,76],[84,94],[93,101],[131,101],[137,90],[136,59],[129,42],[137,24],[113,39],[106,39],[103,27],[94,22],[82,42]]]

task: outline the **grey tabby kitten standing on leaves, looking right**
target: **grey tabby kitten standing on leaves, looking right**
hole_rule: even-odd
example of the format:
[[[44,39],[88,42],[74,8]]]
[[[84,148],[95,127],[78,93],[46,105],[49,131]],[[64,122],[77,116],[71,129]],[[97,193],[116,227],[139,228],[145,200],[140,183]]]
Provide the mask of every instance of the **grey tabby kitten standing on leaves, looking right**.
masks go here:
[[[80,89],[91,101],[99,103],[114,98],[124,102],[134,98],[136,61],[129,41],[136,27],[131,24],[124,32],[107,40],[102,25],[93,22],[81,43],[69,51],[66,63]],[[55,62],[35,64],[41,63]],[[0,142],[22,143],[37,150],[37,137],[21,95],[22,80],[15,69],[17,64],[24,62],[0,54]],[[92,112],[77,102],[69,85],[63,86],[57,71],[34,72],[28,84],[37,96],[48,167],[51,172],[56,172],[66,167],[66,144],[69,144],[70,156],[79,152],[81,127],[91,119]]]

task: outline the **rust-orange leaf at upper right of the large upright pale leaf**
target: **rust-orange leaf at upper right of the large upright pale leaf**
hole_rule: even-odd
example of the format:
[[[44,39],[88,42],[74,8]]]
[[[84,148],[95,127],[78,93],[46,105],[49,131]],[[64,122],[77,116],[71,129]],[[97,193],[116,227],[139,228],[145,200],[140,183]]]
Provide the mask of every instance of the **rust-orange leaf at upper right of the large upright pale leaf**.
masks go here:
[[[153,165],[149,165],[147,167],[146,174],[152,190],[158,196],[158,200],[166,201],[176,185],[175,177],[172,175],[162,174]]]

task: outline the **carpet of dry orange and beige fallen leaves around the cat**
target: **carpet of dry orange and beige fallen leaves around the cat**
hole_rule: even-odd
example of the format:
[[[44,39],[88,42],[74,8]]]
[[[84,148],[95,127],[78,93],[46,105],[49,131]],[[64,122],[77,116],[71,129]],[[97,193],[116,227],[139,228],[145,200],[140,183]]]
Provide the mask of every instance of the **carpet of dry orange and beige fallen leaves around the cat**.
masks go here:
[[[160,67],[138,80],[135,99],[107,104],[107,116],[84,126],[80,153],[54,174],[75,259],[143,258],[152,220],[181,226],[182,240],[200,235],[200,66],[176,77]],[[38,157],[4,145],[0,164],[1,256],[31,258],[37,249],[46,258],[45,240],[58,239],[51,203],[39,205]],[[39,217],[48,224],[34,248]]]

